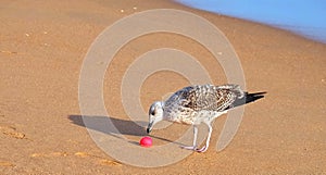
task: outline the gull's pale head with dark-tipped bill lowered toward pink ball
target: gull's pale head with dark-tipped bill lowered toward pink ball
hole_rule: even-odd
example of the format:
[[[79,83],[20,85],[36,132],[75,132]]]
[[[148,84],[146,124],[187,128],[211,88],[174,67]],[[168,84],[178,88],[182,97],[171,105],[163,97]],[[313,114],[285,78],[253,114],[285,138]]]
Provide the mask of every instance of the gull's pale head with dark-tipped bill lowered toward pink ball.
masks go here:
[[[147,133],[150,133],[158,122],[163,121],[163,102],[155,101],[149,109],[149,124]]]

